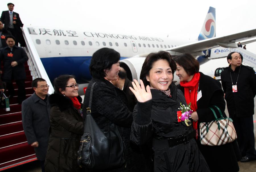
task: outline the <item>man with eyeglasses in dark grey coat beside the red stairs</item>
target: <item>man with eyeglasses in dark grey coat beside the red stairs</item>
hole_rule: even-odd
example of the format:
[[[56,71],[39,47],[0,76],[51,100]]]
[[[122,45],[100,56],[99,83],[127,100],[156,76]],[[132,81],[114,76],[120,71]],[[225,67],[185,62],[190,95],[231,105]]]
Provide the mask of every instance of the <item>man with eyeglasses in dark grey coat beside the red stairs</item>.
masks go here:
[[[22,102],[22,125],[28,144],[34,147],[44,172],[50,127],[49,86],[43,78],[36,78],[32,81],[32,88],[34,94]]]

